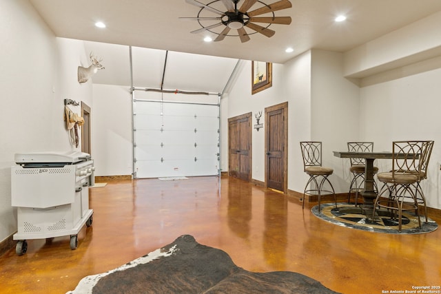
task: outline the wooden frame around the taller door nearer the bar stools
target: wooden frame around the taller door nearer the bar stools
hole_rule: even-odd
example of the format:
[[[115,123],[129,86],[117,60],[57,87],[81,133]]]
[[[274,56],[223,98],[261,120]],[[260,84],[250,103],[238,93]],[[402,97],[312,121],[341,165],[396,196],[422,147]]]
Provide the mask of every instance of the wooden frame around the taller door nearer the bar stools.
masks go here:
[[[283,109],[283,129],[284,132],[284,145],[283,145],[283,193],[288,192],[288,102],[280,103],[265,107],[265,189],[268,188],[268,145],[269,145],[269,112],[274,110]]]

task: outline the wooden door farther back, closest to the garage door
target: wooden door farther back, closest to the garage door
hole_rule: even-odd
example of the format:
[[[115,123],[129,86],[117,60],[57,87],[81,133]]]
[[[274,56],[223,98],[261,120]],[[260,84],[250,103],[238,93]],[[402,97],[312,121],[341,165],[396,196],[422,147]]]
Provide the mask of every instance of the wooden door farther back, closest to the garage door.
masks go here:
[[[251,113],[228,119],[229,175],[251,180]]]

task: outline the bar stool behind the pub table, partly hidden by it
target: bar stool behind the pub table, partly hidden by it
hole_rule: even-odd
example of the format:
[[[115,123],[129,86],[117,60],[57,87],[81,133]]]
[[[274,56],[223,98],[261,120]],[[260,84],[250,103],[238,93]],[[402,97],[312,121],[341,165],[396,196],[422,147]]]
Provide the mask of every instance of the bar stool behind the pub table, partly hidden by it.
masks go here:
[[[348,142],[347,151],[349,152],[372,152],[373,142]],[[358,204],[358,192],[362,191],[365,187],[365,158],[349,158],[351,160],[351,167],[349,171],[352,173],[353,178],[351,185],[349,185],[349,193],[347,196],[347,202],[351,201],[351,193],[354,192],[356,196],[355,205]],[[373,174],[378,173],[378,167],[373,167]],[[378,192],[377,183],[373,182],[373,189]]]

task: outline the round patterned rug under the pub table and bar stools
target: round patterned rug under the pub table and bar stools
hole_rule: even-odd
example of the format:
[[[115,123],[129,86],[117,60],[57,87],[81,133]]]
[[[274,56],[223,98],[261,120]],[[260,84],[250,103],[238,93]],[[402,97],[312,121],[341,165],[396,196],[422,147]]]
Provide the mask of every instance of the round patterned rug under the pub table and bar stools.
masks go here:
[[[373,231],[378,233],[389,233],[389,234],[420,234],[420,233],[430,233],[438,229],[438,224],[424,216],[420,216],[421,219],[421,229],[418,227],[418,218],[415,214],[409,212],[402,213],[402,228],[401,232],[398,231],[398,220],[391,220],[389,216],[379,216],[375,222],[371,223],[366,220],[366,216],[361,213],[353,213],[350,211],[345,212],[345,210],[350,210],[353,208],[353,204],[349,203],[337,203],[337,209],[335,203],[325,203],[321,204],[321,212],[318,212],[318,205],[311,209],[314,216],[337,224],[341,227],[348,227],[351,229],[359,229],[362,231]]]

